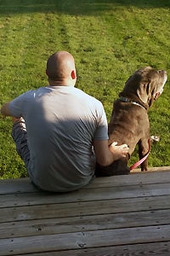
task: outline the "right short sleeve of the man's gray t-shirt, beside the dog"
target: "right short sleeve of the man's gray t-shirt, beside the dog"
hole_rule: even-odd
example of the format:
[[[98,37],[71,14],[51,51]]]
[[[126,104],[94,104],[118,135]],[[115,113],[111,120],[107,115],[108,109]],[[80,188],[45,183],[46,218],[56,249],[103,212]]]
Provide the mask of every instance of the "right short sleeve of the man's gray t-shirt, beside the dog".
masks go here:
[[[108,123],[105,109],[101,102],[98,108],[98,125],[94,134],[94,140],[108,140]]]

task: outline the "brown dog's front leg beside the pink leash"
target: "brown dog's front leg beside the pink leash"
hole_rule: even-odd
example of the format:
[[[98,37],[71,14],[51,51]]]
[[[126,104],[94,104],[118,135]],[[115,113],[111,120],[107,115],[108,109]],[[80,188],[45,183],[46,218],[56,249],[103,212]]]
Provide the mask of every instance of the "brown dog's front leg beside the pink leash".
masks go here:
[[[150,150],[150,139],[147,137],[144,137],[139,140],[138,145],[139,145],[139,159],[142,160]],[[142,172],[148,170],[148,157],[141,163],[140,168]]]

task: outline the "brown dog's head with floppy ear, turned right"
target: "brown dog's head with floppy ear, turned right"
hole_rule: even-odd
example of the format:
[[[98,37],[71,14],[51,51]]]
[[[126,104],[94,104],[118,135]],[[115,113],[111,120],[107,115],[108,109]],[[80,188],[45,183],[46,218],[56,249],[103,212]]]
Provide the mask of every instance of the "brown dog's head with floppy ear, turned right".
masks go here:
[[[127,96],[139,100],[147,108],[161,95],[167,81],[165,70],[156,70],[153,67],[144,67],[137,70],[127,79],[120,96]]]

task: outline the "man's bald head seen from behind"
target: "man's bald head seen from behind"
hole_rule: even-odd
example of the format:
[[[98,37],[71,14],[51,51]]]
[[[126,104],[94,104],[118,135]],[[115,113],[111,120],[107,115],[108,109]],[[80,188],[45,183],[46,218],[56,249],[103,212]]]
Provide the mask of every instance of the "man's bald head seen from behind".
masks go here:
[[[68,83],[68,80],[75,84],[76,67],[73,56],[66,51],[54,53],[48,58],[46,73],[48,80],[55,84],[65,84]]]

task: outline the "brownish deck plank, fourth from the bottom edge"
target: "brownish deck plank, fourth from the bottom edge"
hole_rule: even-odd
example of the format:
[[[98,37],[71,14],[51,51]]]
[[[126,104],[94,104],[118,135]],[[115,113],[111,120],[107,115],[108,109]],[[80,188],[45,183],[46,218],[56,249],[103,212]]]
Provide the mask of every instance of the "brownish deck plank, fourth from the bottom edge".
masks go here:
[[[0,223],[41,218],[66,218],[117,212],[139,212],[170,208],[170,195],[122,200],[85,201],[77,203],[9,207],[0,211]]]

